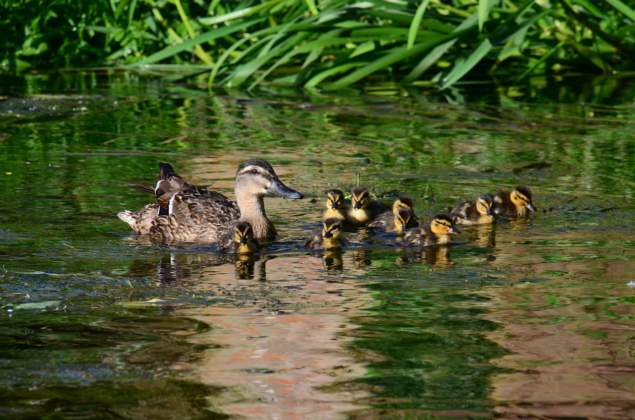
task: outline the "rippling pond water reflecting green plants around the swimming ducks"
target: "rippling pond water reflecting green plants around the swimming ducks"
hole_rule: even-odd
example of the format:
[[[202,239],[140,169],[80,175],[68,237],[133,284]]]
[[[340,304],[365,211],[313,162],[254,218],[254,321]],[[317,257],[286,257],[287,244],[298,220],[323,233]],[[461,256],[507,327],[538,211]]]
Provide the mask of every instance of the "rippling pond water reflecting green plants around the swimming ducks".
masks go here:
[[[133,75],[7,80],[0,101],[0,417],[635,417],[635,142],[627,79],[274,88],[211,96]],[[116,218],[157,162],[232,196],[262,157],[304,200],[241,259]],[[323,191],[458,199],[529,185],[537,213],[403,250],[307,253]]]

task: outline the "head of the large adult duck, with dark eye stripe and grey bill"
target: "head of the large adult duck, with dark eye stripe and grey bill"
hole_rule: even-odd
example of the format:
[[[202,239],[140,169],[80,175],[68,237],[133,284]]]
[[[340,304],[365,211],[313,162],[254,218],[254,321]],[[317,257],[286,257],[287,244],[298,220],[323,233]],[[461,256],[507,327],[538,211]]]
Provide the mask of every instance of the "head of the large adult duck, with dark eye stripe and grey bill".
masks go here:
[[[236,171],[236,197],[241,194],[262,197],[265,194],[277,194],[288,199],[302,199],[304,195],[287,187],[278,179],[274,168],[262,159],[247,159]]]

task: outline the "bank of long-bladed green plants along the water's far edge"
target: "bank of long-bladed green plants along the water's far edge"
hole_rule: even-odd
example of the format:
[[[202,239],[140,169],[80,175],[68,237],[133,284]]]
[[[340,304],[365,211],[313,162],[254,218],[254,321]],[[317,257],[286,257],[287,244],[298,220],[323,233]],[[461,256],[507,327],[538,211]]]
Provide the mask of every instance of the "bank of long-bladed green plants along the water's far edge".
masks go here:
[[[210,86],[445,89],[469,73],[632,69],[620,0],[0,0],[4,71],[172,64]]]

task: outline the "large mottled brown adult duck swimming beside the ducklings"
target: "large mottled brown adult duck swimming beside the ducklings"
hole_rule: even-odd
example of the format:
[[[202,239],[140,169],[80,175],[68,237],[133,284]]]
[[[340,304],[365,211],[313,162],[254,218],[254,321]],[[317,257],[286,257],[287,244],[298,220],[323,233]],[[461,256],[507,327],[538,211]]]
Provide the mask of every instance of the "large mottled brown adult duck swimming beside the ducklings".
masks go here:
[[[233,232],[237,221],[246,221],[252,226],[255,239],[260,242],[272,239],[277,233],[265,214],[265,194],[289,199],[304,198],[304,195],[284,185],[271,165],[262,159],[248,159],[238,166],[234,185],[236,201],[185,181],[179,186],[180,181],[175,178],[178,175],[170,171],[171,166],[164,165],[161,166],[161,180],[154,188],[157,204],[150,204],[138,212],[123,211],[118,214],[135,232],[150,233],[164,239],[217,244],[222,242],[227,232]],[[167,209],[167,214],[163,214],[164,210],[159,207]],[[147,223],[155,209],[156,217]],[[142,217],[144,220],[139,220]]]

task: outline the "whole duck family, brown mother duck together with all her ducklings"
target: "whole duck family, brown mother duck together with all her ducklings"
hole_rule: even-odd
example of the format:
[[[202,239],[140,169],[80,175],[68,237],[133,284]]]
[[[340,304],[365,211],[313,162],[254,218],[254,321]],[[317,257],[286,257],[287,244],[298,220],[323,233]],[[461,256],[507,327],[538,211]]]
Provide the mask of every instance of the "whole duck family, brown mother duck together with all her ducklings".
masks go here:
[[[125,185],[151,192],[156,198],[138,211],[117,214],[133,232],[169,241],[207,242],[231,254],[258,252],[263,243],[277,235],[265,213],[265,195],[304,198],[302,193],[284,185],[273,167],[262,159],[247,159],[238,166],[236,200],[187,183],[170,164],[163,162],[159,163],[156,187]],[[394,200],[391,208],[371,197],[363,186],[352,188],[350,205],[342,190],[331,189],[325,194],[326,210],[321,225],[311,231],[305,243],[307,249],[337,249],[344,242],[346,229],[363,226],[397,235],[395,244],[403,247],[443,245],[451,242],[450,235],[459,233],[456,225],[492,224],[499,217],[522,218],[536,211],[531,190],[525,185],[460,200],[449,213],[438,213],[428,223],[420,223],[415,201],[404,195]]]

